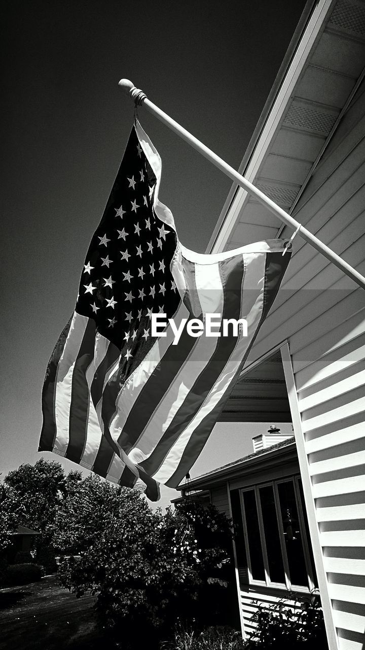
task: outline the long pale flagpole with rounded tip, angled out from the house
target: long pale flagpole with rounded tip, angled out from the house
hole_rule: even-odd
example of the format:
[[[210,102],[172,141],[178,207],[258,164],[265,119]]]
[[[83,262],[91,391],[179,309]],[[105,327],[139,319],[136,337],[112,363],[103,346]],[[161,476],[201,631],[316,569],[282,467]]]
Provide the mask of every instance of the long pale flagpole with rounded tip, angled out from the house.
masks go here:
[[[144,92],[140,90],[139,88],[136,88],[129,79],[121,79],[119,82],[120,88],[124,90],[124,92],[129,95],[133,100],[136,105],[143,105],[147,110],[149,110],[150,113],[155,115],[155,117],[160,120],[160,122],[163,122],[168,126],[171,131],[174,131],[174,133],[177,133],[185,142],[188,142],[194,149],[199,151],[205,158],[208,159],[208,161],[212,162],[218,169],[223,172],[223,174],[229,176],[233,181],[237,183],[240,187],[242,187],[244,190],[249,192],[249,194],[253,194],[260,203],[263,203],[273,214],[275,214],[281,221],[286,224],[286,226],[290,226],[302,237],[308,244],[313,246],[319,253],[324,255],[324,257],[327,257],[329,261],[331,261],[335,266],[340,268],[349,278],[353,279],[362,289],[365,289],[365,278],[362,276],[353,266],[347,264],[342,257],[334,253],[331,248],[323,244],[323,242],[320,241],[315,235],[310,233],[310,231],[307,230],[304,226],[302,226],[296,219],[294,219],[290,214],[286,213],[279,205],[274,203],[274,201],[271,201],[271,199],[266,196],[263,192],[258,190],[255,185],[252,185],[249,181],[247,181],[239,172],[236,172],[236,170],[231,167],[227,162],[223,161],[214,151],[211,149],[208,149],[208,147],[203,144],[203,142],[200,142],[200,140],[197,140],[197,138],[194,137],[189,131],[186,131],[184,127],[182,127],[179,123],[175,122],[170,116],[166,113],[163,112],[163,110],[159,109],[158,106],[152,103],[147,97],[145,96]]]

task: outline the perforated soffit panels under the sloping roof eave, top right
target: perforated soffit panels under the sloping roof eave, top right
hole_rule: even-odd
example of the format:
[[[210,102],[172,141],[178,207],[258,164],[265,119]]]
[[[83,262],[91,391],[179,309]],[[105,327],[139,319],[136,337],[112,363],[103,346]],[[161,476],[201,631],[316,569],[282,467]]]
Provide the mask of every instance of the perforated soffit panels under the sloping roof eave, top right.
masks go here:
[[[288,212],[364,68],[364,26],[365,3],[338,0],[257,169],[254,185]],[[256,209],[260,220],[255,222],[257,202],[244,190],[237,196],[245,198],[223,250],[271,239],[282,225],[264,207]]]

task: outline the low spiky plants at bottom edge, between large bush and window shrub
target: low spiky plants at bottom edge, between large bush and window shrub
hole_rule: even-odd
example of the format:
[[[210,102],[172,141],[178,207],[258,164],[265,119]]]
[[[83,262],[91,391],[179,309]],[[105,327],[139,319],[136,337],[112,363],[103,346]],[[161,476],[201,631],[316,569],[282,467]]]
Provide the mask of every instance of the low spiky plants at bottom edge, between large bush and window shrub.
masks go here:
[[[241,632],[230,627],[208,627],[196,631],[178,626],[173,641],[162,643],[161,650],[244,650]]]

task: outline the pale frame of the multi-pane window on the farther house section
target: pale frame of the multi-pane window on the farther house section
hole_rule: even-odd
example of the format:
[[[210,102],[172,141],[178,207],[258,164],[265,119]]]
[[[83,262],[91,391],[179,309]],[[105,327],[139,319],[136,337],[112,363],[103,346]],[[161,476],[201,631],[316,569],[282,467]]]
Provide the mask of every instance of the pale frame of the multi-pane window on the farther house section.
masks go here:
[[[240,494],[240,506],[241,506],[241,515],[242,515],[242,524],[243,524],[243,530],[244,530],[244,539],[245,539],[245,555],[246,555],[246,561],[247,561],[247,574],[248,574],[248,584],[249,586],[255,586],[255,587],[271,587],[275,589],[286,589],[286,590],[292,590],[292,591],[303,591],[305,593],[308,593],[308,591],[312,591],[315,589],[314,585],[314,580],[313,580],[313,568],[312,568],[312,562],[310,561],[310,552],[309,552],[309,547],[308,547],[308,539],[307,539],[307,534],[305,530],[305,523],[304,523],[304,512],[303,512],[303,507],[301,503],[301,498],[300,498],[300,491],[299,491],[299,486],[298,486],[298,480],[301,478],[300,474],[292,474],[290,476],[286,476],[283,478],[277,478],[273,480],[268,480],[264,481],[260,484],[256,485],[251,485],[247,487],[242,487],[239,490]],[[283,532],[283,523],[281,520],[281,509],[280,509],[280,502],[279,502],[279,491],[277,489],[277,486],[281,483],[288,483],[291,482],[293,487],[294,487],[294,495],[296,499],[296,506],[297,506],[297,514],[298,514],[298,520],[299,520],[299,530],[301,534],[301,542],[303,546],[303,555],[304,555],[304,560],[305,560],[305,569],[307,573],[307,586],[305,585],[297,585],[293,584],[290,580],[290,569],[289,569],[289,563],[288,563],[288,555],[286,553],[286,545],[285,545],[285,539],[284,539],[284,532]],[[281,555],[283,559],[283,567],[284,567],[284,582],[273,582],[270,578],[270,569],[269,569],[269,564],[268,564],[268,552],[266,549],[266,539],[265,539],[265,533],[264,533],[264,521],[262,519],[262,510],[261,510],[261,503],[260,503],[260,488],[262,487],[272,487],[273,489],[273,495],[274,495],[274,502],[275,502],[275,513],[276,513],[276,518],[277,518],[277,526],[279,530],[279,539],[280,539],[280,547],[281,547]],[[265,580],[257,580],[253,578],[252,575],[252,569],[251,569],[251,558],[250,558],[250,552],[249,552],[249,536],[248,536],[248,531],[247,531],[247,523],[246,523],[246,516],[245,516],[245,505],[244,505],[244,493],[253,491],[255,494],[255,502],[256,502],[256,508],[257,508],[257,517],[258,517],[258,529],[260,532],[260,544],[261,544],[261,550],[262,550],[262,560],[264,564],[264,574],[265,574]]]

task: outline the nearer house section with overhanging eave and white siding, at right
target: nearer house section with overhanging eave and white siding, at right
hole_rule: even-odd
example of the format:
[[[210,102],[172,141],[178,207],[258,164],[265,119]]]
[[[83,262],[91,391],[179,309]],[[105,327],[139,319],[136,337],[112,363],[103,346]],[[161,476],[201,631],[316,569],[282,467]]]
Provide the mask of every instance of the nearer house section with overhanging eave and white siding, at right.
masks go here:
[[[307,3],[240,166],[362,274],[364,71],[364,1]],[[292,234],[234,185],[207,253]],[[292,489],[303,489],[331,650],[362,650],[365,642],[364,382],[364,290],[297,234],[281,290],[221,420],[294,425],[301,482]],[[230,478],[230,491],[243,489],[243,480],[251,479]],[[213,502],[225,493],[220,487]]]

